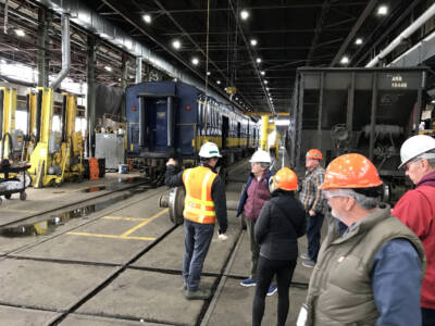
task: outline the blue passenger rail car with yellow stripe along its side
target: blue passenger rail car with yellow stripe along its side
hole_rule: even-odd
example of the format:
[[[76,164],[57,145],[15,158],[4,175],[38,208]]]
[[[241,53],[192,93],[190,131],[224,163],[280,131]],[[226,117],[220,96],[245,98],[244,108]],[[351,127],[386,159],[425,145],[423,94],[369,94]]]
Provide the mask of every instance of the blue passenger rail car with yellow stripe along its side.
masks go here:
[[[128,156],[163,167],[167,158],[195,164],[203,142],[215,142],[226,164],[258,147],[249,117],[178,82],[147,82],[126,89]]]

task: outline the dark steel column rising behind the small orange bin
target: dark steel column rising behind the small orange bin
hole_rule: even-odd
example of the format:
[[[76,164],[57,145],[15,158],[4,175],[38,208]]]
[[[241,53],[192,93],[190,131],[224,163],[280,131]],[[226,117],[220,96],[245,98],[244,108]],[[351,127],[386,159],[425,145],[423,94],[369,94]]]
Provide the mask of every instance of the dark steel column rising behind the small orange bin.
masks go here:
[[[95,155],[95,117],[96,117],[96,88],[95,88],[95,66],[96,66],[96,39],[95,36],[88,36],[88,52],[87,52],[87,82],[88,95],[86,116],[88,122],[88,142],[87,156]]]

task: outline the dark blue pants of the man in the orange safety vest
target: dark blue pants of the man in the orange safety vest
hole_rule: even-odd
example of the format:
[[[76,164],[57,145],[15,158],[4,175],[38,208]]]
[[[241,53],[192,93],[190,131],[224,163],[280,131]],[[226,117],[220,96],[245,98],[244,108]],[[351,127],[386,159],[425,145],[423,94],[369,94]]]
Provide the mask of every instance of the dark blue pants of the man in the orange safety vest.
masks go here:
[[[199,287],[199,279],[211,239],[213,238],[214,224],[200,224],[184,220],[185,247],[183,256],[183,278],[190,291]]]

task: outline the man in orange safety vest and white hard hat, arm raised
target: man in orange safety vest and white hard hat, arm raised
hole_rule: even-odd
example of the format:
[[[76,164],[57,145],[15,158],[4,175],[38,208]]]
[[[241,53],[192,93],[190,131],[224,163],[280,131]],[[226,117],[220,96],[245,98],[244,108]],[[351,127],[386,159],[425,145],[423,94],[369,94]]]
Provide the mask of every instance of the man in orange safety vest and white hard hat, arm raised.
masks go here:
[[[206,142],[199,150],[199,166],[175,174],[176,162],[170,159],[166,163],[166,186],[184,185],[186,188],[183,211],[186,247],[183,256],[183,278],[187,300],[207,300],[211,297],[209,289],[199,287],[199,281],[216,220],[220,226],[219,237],[226,238],[228,222],[225,184],[214,171],[219,158],[222,156],[217,146],[214,142]]]

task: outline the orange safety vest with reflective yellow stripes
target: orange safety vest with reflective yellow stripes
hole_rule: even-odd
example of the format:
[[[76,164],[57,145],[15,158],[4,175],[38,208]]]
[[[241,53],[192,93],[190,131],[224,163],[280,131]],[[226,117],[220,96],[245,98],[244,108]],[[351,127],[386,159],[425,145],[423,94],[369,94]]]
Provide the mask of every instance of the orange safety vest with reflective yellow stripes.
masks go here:
[[[183,183],[186,188],[184,218],[201,224],[215,223],[216,212],[211,198],[211,186],[216,176],[213,171],[204,166],[185,170],[183,173]]]

